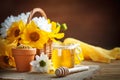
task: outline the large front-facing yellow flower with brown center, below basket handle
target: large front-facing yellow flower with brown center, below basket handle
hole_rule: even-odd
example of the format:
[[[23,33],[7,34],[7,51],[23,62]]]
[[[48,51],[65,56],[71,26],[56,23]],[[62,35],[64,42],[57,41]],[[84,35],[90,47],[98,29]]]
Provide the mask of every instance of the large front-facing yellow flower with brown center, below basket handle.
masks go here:
[[[26,26],[23,34],[21,35],[22,44],[38,49],[43,48],[48,39],[48,33],[40,30],[33,21]]]

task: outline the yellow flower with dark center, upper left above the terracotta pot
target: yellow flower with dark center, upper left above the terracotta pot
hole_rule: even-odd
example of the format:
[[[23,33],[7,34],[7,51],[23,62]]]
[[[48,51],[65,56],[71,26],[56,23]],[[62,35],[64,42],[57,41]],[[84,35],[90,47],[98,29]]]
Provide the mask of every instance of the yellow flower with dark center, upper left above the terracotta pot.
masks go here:
[[[23,23],[22,20],[18,22],[14,22],[7,31],[7,40],[10,43],[15,40],[18,40],[20,38],[20,34],[22,34],[24,27],[25,27],[25,24]]]

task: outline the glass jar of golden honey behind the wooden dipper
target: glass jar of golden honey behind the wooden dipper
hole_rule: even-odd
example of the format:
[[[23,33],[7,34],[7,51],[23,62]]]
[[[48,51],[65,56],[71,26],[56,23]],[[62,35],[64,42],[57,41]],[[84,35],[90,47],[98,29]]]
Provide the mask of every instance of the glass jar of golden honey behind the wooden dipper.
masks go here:
[[[52,50],[53,67],[61,66],[72,68],[75,64],[75,47],[74,45],[57,45]]]

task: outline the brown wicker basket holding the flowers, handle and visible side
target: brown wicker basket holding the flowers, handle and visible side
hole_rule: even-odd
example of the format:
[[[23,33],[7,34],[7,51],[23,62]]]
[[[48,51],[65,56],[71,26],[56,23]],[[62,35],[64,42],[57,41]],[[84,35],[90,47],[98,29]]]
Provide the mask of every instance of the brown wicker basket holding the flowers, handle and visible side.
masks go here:
[[[44,12],[43,9],[41,8],[34,8],[31,12],[30,15],[28,17],[27,23],[29,23],[32,19],[32,17],[34,16],[35,13],[40,13],[45,19],[47,19],[47,16]],[[43,49],[37,49],[37,54],[39,55],[41,52],[44,52],[45,54],[48,55],[49,58],[51,58],[51,51],[52,51],[52,40],[48,40],[48,42],[44,45]]]

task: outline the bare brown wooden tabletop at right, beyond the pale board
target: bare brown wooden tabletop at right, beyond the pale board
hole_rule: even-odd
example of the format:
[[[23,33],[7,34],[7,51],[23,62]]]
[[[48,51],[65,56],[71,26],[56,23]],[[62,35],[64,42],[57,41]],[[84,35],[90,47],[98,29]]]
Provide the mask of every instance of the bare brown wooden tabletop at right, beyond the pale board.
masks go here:
[[[83,61],[82,64],[100,66],[100,70],[94,76],[85,80],[120,80],[120,60],[114,60],[109,64]]]

